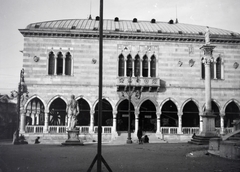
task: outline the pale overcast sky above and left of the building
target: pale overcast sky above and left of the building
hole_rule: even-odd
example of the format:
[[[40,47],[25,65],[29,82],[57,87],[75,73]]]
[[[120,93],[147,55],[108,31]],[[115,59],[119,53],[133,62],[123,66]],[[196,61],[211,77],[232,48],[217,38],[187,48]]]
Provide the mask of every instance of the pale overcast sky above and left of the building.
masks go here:
[[[0,0],[0,94],[17,90],[28,24],[99,15],[100,0]],[[240,0],[104,0],[104,18],[180,23],[240,33]]]

